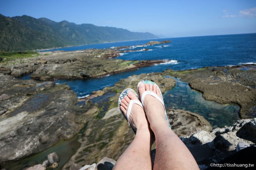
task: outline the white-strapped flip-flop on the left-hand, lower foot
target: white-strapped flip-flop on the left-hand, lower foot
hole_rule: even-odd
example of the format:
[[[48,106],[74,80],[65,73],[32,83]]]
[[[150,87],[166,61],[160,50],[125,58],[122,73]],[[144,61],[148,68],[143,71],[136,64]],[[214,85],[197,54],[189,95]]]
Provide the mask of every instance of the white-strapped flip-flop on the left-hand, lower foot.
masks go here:
[[[120,94],[120,96],[119,96],[119,99],[118,99],[118,106],[119,106],[119,108],[120,108],[121,100],[122,100],[125,96],[128,95],[128,92],[133,92],[133,93],[137,96],[137,98],[140,100],[139,96],[137,95],[137,93],[136,93],[134,90],[132,90],[131,88],[127,88],[127,89],[125,89],[123,92],[121,92],[121,94]],[[138,104],[140,107],[143,108],[142,103],[140,103],[138,100],[134,100],[134,99],[133,99],[133,100],[131,100],[130,103],[129,103],[126,116],[124,115],[124,112],[120,109],[121,113],[124,115],[125,119],[127,120],[129,126],[131,126],[130,123],[129,123],[129,116],[130,116],[130,114],[131,114],[131,110],[132,110],[132,105],[133,105],[133,103]],[[143,110],[144,110],[144,108],[143,108]],[[132,126],[131,126],[131,128],[132,128],[132,130],[134,131],[134,133],[136,134],[135,129],[133,129]]]

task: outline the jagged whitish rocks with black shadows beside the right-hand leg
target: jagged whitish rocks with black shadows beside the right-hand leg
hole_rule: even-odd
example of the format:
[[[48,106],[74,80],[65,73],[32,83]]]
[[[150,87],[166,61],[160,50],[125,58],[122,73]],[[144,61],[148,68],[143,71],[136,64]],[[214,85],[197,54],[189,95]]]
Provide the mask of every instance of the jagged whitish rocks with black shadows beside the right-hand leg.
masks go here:
[[[236,152],[239,142],[256,144],[256,118],[238,120],[230,127],[199,131],[181,137],[199,165],[209,166]]]

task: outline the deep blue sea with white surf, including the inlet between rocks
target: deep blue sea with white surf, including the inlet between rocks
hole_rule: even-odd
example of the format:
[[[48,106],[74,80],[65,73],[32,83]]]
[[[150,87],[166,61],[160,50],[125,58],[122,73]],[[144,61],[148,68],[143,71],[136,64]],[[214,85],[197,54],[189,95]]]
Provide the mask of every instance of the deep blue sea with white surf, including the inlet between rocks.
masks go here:
[[[118,59],[123,60],[158,60],[167,59],[169,63],[140,68],[120,74],[98,79],[86,80],[56,80],[56,83],[67,83],[77,92],[78,97],[91,94],[106,86],[113,86],[120,79],[133,74],[162,72],[167,68],[172,70],[187,70],[206,66],[227,66],[256,63],[256,33],[237,35],[216,35],[200,37],[181,37],[155,39],[170,40],[168,44],[157,44],[148,47],[136,47],[133,50],[148,48],[150,51],[122,53]],[[84,50],[89,48],[110,48],[145,44],[150,40],[124,41],[116,43],[92,44],[87,46],[67,47],[54,50]]]

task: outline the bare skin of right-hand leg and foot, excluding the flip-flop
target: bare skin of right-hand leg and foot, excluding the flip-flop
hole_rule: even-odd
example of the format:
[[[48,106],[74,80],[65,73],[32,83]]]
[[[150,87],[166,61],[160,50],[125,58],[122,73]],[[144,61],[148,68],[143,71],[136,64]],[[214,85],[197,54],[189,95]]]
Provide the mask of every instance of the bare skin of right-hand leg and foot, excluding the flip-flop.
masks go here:
[[[140,84],[140,94],[145,90],[155,92],[160,97],[158,88],[152,84]],[[143,104],[157,145],[154,169],[199,169],[188,148],[169,129],[163,105],[150,95],[145,96]]]

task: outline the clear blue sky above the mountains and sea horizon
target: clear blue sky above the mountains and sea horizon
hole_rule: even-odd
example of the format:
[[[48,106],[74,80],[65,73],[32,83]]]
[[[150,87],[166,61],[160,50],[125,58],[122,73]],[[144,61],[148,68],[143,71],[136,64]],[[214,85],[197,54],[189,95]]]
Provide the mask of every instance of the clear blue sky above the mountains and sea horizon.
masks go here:
[[[256,32],[256,0],[0,0],[0,13],[166,37]]]

